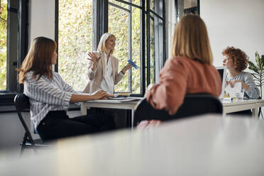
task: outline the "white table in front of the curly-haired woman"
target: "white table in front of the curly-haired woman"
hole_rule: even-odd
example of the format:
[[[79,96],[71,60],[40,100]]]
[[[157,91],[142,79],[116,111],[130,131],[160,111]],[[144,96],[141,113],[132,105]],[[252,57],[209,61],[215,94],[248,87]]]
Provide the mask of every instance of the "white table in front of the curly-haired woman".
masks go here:
[[[228,113],[252,109],[252,116],[258,118],[258,108],[264,106],[264,99],[238,99],[236,101],[221,101],[223,116]]]

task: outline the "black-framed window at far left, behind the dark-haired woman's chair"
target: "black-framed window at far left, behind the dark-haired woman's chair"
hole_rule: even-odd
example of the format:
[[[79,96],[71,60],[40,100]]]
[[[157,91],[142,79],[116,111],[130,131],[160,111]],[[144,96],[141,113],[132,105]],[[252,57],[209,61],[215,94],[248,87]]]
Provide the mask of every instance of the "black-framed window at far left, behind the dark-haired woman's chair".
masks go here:
[[[12,105],[18,84],[16,68],[28,50],[28,0],[0,0],[0,106]]]

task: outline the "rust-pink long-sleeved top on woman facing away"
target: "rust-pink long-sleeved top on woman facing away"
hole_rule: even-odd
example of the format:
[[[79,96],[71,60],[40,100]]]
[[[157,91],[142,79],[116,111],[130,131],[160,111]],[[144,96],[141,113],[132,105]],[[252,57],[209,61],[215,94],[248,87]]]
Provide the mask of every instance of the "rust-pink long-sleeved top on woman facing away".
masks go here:
[[[160,71],[159,83],[147,93],[147,101],[155,109],[175,114],[185,94],[221,94],[221,77],[213,65],[202,64],[187,57],[172,57]]]

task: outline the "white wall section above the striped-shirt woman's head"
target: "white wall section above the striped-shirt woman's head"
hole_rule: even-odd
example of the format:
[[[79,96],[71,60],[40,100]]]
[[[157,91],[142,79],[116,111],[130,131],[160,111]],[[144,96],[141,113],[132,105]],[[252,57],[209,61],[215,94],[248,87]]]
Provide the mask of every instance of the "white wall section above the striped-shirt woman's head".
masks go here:
[[[29,42],[39,36],[55,39],[55,1],[30,0]]]

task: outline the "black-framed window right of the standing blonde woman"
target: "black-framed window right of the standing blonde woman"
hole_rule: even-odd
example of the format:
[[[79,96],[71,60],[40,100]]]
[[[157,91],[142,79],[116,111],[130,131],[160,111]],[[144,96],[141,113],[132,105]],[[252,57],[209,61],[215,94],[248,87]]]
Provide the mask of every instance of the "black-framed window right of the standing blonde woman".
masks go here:
[[[158,81],[165,61],[163,7],[161,0],[109,0],[109,33],[116,35],[114,55],[119,58],[120,69],[128,59],[141,65],[140,70],[129,70],[116,85],[116,92],[142,96],[148,84]]]

